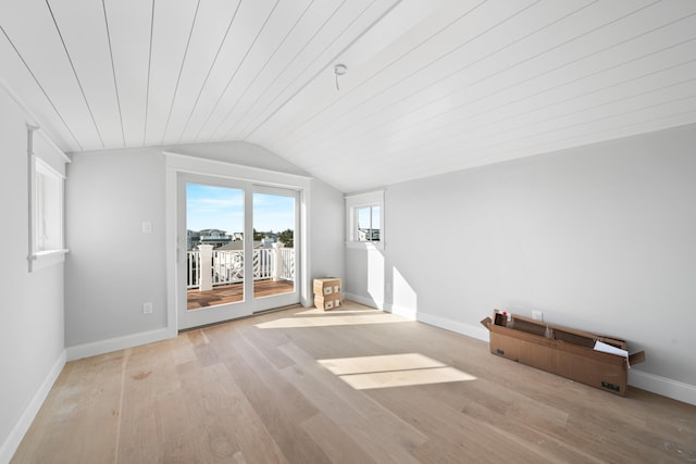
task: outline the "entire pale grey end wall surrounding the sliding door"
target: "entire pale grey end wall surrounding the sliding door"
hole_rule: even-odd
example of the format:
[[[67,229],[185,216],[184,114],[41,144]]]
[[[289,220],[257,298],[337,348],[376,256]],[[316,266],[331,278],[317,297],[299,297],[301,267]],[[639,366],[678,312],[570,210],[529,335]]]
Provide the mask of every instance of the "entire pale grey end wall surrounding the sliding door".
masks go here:
[[[251,167],[307,174],[246,142],[167,149]],[[137,344],[152,339],[147,334],[165,336],[163,150],[158,147],[73,155],[66,189],[66,239],[71,253],[65,277],[65,337],[71,355],[123,346],[109,340],[128,338],[126,344]],[[315,265],[319,273],[343,276],[341,193],[313,180],[310,203],[310,267],[313,269]],[[142,222],[152,224],[152,234],[142,234]],[[333,260],[330,255],[338,258]],[[153,303],[152,314],[142,314],[144,302]]]

